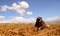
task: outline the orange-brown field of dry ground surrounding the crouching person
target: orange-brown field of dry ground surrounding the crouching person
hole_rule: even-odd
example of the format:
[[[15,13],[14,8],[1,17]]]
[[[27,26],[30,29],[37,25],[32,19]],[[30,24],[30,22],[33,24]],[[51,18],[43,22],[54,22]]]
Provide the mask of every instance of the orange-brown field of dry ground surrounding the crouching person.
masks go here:
[[[0,36],[60,36],[60,24],[35,31],[34,24],[0,23]]]

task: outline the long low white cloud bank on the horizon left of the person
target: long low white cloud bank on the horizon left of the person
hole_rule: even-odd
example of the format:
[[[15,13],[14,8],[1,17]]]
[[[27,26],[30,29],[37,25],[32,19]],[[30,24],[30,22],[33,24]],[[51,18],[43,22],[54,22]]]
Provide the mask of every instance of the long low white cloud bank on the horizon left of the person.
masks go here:
[[[0,23],[34,23],[35,18],[12,17],[10,20],[3,20]]]

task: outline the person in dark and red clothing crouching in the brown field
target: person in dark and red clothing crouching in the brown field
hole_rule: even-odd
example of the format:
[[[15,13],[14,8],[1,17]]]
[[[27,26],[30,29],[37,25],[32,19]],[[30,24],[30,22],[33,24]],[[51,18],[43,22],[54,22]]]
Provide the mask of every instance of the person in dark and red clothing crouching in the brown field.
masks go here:
[[[46,23],[42,20],[42,17],[37,17],[35,22],[36,30],[39,30],[39,29],[42,30],[45,27],[46,27]]]

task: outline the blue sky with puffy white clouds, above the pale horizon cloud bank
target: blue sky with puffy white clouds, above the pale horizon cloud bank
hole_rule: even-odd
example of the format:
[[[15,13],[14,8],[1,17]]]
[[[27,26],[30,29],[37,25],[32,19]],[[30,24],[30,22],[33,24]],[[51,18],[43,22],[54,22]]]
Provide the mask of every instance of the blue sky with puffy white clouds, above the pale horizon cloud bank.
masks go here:
[[[60,0],[0,0],[0,20],[60,16]]]

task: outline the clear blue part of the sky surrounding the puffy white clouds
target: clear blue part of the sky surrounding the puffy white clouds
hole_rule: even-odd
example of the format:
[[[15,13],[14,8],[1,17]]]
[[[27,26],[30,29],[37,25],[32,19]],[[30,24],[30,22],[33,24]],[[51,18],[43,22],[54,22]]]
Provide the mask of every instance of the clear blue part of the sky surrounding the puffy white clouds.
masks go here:
[[[25,1],[29,4],[26,11],[31,11],[32,15],[24,15],[24,18],[36,18],[41,16],[44,19],[60,16],[60,0],[0,0],[0,7],[3,5],[11,6],[13,3]],[[0,11],[0,16],[10,19],[12,16],[21,16],[14,10]],[[9,17],[10,16],[10,17]]]

